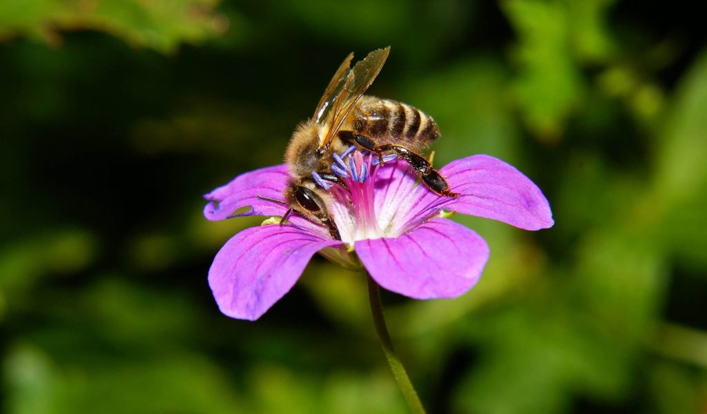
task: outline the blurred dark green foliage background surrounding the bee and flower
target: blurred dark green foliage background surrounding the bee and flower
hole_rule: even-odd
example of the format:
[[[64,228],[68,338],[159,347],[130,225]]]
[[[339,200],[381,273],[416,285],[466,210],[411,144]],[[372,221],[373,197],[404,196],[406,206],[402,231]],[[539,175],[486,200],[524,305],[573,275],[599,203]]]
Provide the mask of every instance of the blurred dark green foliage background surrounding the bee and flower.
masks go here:
[[[405,413],[364,278],[312,261],[255,323],[211,259],[262,219],[201,194],[281,162],[341,59],[438,121],[436,164],[547,195],[456,300],[385,293],[431,413],[707,412],[707,42],[699,2],[0,0],[6,413]]]

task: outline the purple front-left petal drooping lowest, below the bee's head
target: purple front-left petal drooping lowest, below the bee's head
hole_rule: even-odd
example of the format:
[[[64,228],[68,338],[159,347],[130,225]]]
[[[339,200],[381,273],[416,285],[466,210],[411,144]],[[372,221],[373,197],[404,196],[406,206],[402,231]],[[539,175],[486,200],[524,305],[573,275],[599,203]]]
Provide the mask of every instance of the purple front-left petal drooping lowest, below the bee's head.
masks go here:
[[[312,255],[339,244],[291,225],[243,230],[221,247],[209,269],[218,308],[255,321],[293,287]]]

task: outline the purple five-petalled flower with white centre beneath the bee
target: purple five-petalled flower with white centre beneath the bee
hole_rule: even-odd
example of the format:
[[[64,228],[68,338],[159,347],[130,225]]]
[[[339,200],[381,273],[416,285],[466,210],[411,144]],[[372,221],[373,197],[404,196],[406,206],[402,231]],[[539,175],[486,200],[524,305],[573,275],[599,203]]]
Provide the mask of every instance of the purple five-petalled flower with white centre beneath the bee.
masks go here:
[[[355,151],[336,167],[348,190],[331,187],[328,208],[341,240],[296,213],[284,225],[251,227],[228,240],[209,269],[209,285],[221,312],[258,319],[293,287],[317,252],[344,266],[363,264],[379,285],[401,295],[457,297],[479,280],[489,247],[473,230],[444,218],[445,211],[525,230],[554,223],[542,191],[489,155],[455,160],[439,170],[451,191],[460,194],[458,199],[438,196],[419,184],[402,160],[382,165],[377,161]],[[239,175],[204,196],[210,200],[204,215],[209,220],[284,215],[288,207],[268,199],[284,200],[287,180],[286,165]],[[236,213],[244,207],[249,208]]]

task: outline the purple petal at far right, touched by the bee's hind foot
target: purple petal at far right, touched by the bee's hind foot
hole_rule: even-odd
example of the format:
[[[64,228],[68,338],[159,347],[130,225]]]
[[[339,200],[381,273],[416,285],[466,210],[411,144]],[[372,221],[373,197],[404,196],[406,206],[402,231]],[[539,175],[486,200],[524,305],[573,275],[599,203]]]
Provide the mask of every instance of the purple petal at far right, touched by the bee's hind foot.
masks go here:
[[[500,220],[525,230],[552,227],[552,212],[542,191],[522,172],[489,155],[472,155],[445,165],[447,177],[459,199],[443,208]],[[428,197],[426,197],[428,198]]]

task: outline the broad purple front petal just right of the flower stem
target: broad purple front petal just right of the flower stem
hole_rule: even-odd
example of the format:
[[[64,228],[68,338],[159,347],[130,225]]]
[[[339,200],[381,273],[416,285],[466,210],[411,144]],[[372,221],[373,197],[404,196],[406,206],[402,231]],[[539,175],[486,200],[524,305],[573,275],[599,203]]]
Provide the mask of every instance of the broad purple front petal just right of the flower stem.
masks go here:
[[[489,259],[489,246],[468,227],[436,218],[394,239],[360,240],[356,254],[383,288],[436,299],[471,289]]]

